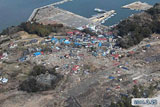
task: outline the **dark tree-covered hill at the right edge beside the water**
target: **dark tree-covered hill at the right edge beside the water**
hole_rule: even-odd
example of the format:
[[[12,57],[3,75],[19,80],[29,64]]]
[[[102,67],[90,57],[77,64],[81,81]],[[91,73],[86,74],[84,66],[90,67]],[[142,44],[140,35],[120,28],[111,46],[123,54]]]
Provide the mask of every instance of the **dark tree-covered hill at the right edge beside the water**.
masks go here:
[[[145,12],[121,21],[114,31],[117,36],[122,37],[117,43],[123,48],[140,43],[152,33],[160,33],[160,3]]]

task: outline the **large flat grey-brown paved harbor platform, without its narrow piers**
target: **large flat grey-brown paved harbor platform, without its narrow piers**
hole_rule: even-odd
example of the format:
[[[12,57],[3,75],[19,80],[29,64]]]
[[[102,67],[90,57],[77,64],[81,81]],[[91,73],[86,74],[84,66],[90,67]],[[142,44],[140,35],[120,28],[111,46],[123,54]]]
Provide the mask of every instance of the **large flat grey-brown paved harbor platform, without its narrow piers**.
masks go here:
[[[37,12],[34,11],[34,13],[36,14],[30,20],[43,24],[62,23],[66,26],[78,28],[92,23],[92,21],[87,18],[54,6],[38,9]]]

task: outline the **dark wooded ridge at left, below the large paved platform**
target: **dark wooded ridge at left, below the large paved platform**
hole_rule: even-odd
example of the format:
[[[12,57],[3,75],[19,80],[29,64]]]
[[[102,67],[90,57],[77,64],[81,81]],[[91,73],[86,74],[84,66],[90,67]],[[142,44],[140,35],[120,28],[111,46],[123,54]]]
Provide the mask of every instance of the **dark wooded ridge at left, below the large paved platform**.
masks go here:
[[[43,25],[36,22],[23,22],[18,26],[12,26],[4,29],[0,35],[12,35],[19,31],[25,31],[29,34],[37,34],[40,37],[45,37],[51,33],[64,35],[67,31],[71,31],[73,29],[74,28],[64,26],[63,24]]]

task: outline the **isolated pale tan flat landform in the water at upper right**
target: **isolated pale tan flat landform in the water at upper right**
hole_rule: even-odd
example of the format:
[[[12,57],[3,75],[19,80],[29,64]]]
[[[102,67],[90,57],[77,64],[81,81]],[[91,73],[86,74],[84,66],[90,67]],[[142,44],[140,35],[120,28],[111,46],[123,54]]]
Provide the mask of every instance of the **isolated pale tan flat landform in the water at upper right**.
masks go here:
[[[140,1],[133,2],[131,4],[122,6],[122,8],[128,8],[128,9],[131,9],[131,10],[148,10],[151,7],[152,7],[151,5],[149,5],[149,4],[145,3],[145,2],[142,3]]]

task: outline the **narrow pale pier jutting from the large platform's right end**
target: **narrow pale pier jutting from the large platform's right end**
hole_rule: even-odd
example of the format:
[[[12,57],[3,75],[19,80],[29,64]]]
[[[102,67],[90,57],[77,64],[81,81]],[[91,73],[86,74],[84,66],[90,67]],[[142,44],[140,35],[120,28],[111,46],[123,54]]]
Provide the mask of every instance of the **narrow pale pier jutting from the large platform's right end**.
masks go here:
[[[101,23],[104,20],[110,18],[111,16],[113,16],[115,14],[115,10],[111,10],[111,11],[106,11],[103,14],[98,14],[96,16],[93,16],[91,18],[89,18],[89,20],[91,20],[94,23]]]

